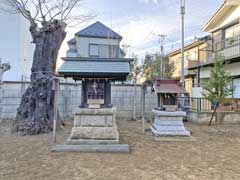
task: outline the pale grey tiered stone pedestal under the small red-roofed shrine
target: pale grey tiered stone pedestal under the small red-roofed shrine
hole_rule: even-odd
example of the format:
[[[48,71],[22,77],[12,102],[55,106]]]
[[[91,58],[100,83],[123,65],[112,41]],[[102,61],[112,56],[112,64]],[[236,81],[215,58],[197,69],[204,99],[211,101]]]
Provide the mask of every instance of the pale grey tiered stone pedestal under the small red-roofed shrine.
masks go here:
[[[190,136],[183,124],[186,112],[153,110],[155,115],[151,131],[155,136]]]

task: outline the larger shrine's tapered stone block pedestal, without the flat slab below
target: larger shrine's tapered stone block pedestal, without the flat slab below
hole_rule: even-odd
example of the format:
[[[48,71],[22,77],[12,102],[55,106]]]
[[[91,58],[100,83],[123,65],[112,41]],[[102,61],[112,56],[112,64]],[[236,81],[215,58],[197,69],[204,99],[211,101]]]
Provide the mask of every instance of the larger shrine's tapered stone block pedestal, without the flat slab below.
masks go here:
[[[116,108],[78,109],[67,144],[119,143],[115,115]]]

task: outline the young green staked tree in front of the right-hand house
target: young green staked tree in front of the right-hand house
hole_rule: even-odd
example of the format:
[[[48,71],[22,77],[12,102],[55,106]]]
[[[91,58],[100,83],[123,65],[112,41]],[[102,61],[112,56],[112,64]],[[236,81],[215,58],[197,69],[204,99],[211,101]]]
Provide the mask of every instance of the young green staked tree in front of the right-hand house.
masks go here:
[[[215,105],[214,113],[219,106],[226,102],[227,96],[233,95],[233,79],[231,75],[226,72],[223,60],[215,60],[214,67],[211,69],[210,78],[203,89],[205,90],[203,97]],[[211,121],[212,119],[209,125],[211,125]],[[218,123],[220,121],[219,113],[217,114],[216,121],[218,121]]]

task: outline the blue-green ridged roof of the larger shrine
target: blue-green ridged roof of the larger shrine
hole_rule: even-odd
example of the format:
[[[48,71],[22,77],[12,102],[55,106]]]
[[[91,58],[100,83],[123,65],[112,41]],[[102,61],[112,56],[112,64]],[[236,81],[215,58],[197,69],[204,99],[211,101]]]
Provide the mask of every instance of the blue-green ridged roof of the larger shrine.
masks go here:
[[[62,58],[63,64],[58,69],[59,75],[83,78],[109,78],[126,80],[130,73],[130,62],[127,58]]]

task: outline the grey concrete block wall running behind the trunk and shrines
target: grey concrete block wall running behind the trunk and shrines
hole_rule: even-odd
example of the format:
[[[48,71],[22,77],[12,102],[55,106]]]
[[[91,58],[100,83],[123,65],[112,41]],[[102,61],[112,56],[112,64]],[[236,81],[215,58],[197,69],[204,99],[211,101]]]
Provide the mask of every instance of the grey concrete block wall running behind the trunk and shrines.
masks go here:
[[[17,108],[21,101],[27,82],[4,82],[0,87],[0,118],[15,118]],[[142,90],[136,88],[136,115],[141,116]],[[112,85],[112,104],[117,108],[117,116],[131,118],[134,107],[133,85]],[[61,83],[58,98],[58,108],[62,118],[73,118],[73,112],[81,103],[80,83]],[[147,87],[145,94],[145,115],[150,116],[151,111],[157,106],[157,96]]]

